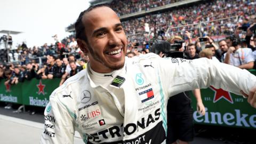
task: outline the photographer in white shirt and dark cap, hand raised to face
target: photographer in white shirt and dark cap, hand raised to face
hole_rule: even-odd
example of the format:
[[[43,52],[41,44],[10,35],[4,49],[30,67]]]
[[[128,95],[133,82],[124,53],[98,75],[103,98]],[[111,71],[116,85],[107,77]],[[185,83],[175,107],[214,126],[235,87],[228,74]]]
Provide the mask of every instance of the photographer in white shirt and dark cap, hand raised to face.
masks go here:
[[[252,50],[241,47],[241,41],[235,37],[228,37],[231,45],[224,54],[224,63],[236,66],[242,69],[252,69],[254,66],[254,58]]]

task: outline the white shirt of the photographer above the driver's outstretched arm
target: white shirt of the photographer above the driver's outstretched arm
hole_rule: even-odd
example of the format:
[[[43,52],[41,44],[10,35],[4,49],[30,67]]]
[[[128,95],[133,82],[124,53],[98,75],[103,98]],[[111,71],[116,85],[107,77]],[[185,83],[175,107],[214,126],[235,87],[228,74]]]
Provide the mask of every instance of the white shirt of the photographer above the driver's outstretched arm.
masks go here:
[[[227,53],[224,54],[224,59],[226,58],[226,54]],[[230,54],[230,65],[237,67],[251,61],[254,61],[254,57],[252,50],[249,48],[239,48],[235,53]]]

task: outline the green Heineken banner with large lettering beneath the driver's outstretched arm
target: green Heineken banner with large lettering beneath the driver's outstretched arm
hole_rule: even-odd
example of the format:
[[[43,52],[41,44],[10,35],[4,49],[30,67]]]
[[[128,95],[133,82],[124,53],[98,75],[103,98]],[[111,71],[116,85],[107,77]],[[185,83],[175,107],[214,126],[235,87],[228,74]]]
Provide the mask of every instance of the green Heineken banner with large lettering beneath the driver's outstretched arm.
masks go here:
[[[250,71],[256,74],[255,70]],[[193,96],[195,123],[256,129],[256,109],[249,105],[246,98],[212,86],[201,89],[201,96],[206,113],[201,116],[196,112]]]

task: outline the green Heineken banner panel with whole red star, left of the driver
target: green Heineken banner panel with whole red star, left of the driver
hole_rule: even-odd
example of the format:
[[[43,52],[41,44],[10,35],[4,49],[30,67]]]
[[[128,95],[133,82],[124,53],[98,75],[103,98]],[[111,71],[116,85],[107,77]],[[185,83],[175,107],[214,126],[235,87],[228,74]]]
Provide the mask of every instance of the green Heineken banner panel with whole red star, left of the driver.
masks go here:
[[[45,107],[50,94],[59,86],[60,79],[31,79],[22,84],[23,105]]]

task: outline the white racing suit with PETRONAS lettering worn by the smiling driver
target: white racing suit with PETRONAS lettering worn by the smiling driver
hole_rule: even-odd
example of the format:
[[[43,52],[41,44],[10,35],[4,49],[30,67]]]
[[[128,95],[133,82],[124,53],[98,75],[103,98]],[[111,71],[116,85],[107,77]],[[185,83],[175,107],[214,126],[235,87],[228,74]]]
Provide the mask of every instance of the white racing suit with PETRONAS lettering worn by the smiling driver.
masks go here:
[[[171,95],[209,85],[241,95],[256,84],[249,71],[224,63],[153,53],[126,57],[111,90],[95,86],[88,73],[82,70],[52,92],[41,143],[73,143],[75,130],[85,143],[165,143]],[[118,95],[124,96],[124,110]]]

